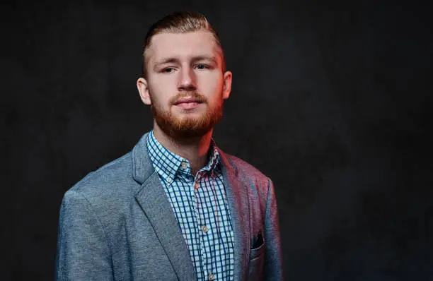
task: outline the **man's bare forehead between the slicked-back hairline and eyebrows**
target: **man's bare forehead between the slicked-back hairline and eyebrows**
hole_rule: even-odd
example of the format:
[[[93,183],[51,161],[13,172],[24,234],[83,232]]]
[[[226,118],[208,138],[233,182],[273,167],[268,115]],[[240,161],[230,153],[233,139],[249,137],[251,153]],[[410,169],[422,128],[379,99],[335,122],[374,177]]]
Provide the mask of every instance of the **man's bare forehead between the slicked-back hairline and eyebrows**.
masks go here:
[[[214,36],[207,30],[187,33],[162,32],[154,35],[146,56],[152,64],[159,59],[178,57],[180,59],[193,56],[219,57],[219,46]]]

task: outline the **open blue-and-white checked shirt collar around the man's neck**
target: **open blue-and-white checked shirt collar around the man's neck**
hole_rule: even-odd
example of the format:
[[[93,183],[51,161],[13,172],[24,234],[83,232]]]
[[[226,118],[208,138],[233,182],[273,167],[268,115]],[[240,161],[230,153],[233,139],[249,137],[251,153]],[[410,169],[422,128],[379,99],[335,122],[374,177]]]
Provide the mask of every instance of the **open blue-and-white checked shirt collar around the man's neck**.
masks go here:
[[[178,173],[190,174],[190,162],[180,155],[172,153],[159,143],[154,136],[154,130],[147,135],[147,150],[154,169],[168,183],[173,182]],[[220,160],[214,139],[211,139],[209,153],[209,161],[200,171],[209,171],[213,175],[219,167]]]

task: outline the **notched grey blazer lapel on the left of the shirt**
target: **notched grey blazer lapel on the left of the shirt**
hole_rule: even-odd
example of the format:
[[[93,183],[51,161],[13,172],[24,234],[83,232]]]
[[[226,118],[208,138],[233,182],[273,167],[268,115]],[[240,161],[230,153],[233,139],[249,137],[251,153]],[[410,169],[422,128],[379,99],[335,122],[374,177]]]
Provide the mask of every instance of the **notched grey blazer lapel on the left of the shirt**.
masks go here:
[[[132,150],[133,177],[142,184],[135,198],[149,219],[154,232],[178,275],[179,280],[197,280],[190,251],[178,228],[178,222],[163,189],[158,174],[154,172],[146,148],[146,135]]]

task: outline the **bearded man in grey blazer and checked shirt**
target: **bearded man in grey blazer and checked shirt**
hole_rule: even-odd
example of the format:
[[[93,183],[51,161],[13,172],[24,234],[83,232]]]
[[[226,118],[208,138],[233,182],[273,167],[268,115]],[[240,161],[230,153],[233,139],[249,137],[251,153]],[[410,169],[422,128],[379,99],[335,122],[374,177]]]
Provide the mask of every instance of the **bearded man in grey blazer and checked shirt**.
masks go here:
[[[232,78],[217,33],[173,13],[143,56],[154,129],[65,193],[57,280],[282,280],[272,181],[212,140]]]

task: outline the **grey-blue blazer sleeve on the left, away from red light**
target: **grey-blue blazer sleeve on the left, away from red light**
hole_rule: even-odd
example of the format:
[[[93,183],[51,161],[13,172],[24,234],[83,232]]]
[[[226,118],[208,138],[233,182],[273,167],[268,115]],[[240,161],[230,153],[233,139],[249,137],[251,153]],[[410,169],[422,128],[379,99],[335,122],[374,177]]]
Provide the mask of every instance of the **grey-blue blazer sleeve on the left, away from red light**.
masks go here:
[[[55,280],[112,280],[110,248],[91,204],[65,193],[59,215]]]

